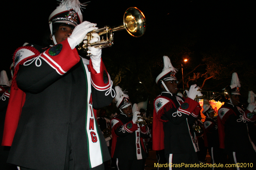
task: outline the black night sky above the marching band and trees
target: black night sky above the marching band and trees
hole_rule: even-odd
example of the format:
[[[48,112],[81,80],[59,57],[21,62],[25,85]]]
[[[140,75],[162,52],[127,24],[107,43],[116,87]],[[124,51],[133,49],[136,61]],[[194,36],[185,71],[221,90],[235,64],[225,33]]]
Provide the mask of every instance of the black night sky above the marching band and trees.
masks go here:
[[[187,28],[184,29],[184,33],[194,32],[200,37],[200,41],[192,50],[235,44],[239,47],[239,53],[243,55],[241,59],[244,60],[246,57],[255,58],[255,28],[252,25],[255,18],[252,15],[253,4],[250,2],[158,0],[150,3],[145,0],[92,0],[84,9],[83,16],[84,20],[97,23],[101,27],[121,24],[124,11],[131,6],[139,8],[144,13],[147,20],[146,33],[140,38],[134,38],[125,31],[117,32],[111,50],[128,46],[136,53],[138,50],[150,50],[147,48],[148,44],[155,44],[156,50],[168,50],[162,49],[159,45],[168,43],[172,36],[179,36],[175,30]],[[5,1],[3,6],[4,53],[0,70],[8,71],[16,48],[22,46],[24,42],[41,43],[44,30],[48,27],[48,17],[56,8],[57,1]],[[179,33],[182,34],[182,31]],[[103,54],[104,51],[105,49]]]

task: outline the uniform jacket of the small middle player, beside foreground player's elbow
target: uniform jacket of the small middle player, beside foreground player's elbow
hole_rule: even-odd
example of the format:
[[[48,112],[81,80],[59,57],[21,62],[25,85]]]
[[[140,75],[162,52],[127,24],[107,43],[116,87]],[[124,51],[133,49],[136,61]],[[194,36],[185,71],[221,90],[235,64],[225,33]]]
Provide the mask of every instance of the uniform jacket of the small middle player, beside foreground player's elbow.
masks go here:
[[[147,126],[132,122],[132,116],[120,113],[111,119],[112,148],[111,157],[118,159],[145,159],[147,157],[143,137],[149,136]]]

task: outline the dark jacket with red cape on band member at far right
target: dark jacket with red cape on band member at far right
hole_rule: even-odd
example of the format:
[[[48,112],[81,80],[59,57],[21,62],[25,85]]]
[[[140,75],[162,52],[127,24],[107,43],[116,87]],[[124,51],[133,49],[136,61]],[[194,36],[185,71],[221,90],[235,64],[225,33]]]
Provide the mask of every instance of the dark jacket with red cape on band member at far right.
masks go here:
[[[255,122],[255,119],[256,115],[249,110],[243,111],[240,107],[225,102],[218,110],[217,117],[220,148],[231,152],[255,154],[255,144],[248,134],[248,125]]]

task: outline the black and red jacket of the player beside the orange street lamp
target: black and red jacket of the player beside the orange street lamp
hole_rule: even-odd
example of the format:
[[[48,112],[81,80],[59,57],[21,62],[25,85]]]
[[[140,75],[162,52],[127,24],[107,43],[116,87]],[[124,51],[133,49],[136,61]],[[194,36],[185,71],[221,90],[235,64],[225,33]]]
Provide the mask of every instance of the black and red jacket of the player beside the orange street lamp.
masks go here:
[[[156,97],[153,150],[164,149],[165,155],[197,152],[192,135],[194,132],[190,131],[189,125],[195,122],[200,110],[201,107],[195,100],[187,98],[184,101],[171,92],[162,92]]]

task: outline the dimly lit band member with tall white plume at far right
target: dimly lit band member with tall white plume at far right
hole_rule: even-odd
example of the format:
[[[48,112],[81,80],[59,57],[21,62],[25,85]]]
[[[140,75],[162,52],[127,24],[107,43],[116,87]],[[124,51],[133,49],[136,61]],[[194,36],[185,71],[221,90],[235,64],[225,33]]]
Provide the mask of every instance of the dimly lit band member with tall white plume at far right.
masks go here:
[[[237,73],[233,73],[231,85],[225,88],[229,99],[226,99],[218,111],[220,148],[225,148],[232,163],[253,163],[254,165],[256,164],[256,147],[248,134],[248,126],[255,122],[256,115],[252,114],[252,111],[256,106],[255,103],[249,103],[246,111],[238,107],[240,87]],[[242,167],[237,169],[239,168],[242,169]]]

